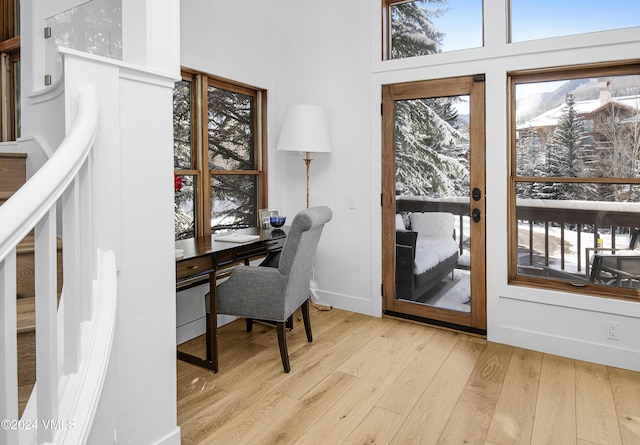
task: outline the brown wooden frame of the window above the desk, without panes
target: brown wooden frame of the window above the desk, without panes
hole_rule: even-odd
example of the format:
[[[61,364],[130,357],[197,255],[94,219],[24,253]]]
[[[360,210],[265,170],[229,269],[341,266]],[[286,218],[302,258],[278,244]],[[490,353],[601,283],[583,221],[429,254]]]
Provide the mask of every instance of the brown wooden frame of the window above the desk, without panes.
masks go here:
[[[191,168],[178,169],[174,174],[194,176],[194,222],[195,236],[208,237],[213,233],[211,227],[211,182],[217,175],[247,175],[256,177],[258,211],[268,206],[267,190],[267,91],[241,82],[214,76],[202,71],[182,67],[182,80],[191,82]],[[254,123],[254,169],[253,170],[210,170],[208,161],[207,111],[209,86],[250,95],[255,98],[256,119]]]

